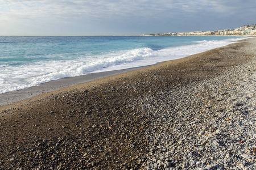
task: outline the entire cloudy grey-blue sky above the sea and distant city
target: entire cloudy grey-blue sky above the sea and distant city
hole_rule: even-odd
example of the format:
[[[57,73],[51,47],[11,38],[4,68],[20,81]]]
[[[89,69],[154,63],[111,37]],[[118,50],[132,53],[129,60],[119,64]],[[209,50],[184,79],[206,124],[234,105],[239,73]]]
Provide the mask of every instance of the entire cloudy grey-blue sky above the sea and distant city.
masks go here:
[[[216,31],[256,24],[255,0],[0,0],[0,35]]]

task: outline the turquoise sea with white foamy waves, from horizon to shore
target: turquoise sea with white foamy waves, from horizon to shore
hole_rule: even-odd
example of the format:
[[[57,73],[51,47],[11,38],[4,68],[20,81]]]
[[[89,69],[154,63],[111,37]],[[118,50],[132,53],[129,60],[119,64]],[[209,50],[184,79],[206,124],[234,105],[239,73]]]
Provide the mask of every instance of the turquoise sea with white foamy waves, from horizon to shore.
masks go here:
[[[61,78],[153,65],[225,46],[234,36],[0,36],[0,94]]]

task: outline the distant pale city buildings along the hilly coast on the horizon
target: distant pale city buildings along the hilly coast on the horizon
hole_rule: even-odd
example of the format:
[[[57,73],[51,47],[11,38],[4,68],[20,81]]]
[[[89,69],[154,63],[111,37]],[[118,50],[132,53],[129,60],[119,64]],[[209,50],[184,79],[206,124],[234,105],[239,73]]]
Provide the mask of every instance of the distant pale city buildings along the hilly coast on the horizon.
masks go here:
[[[223,29],[218,31],[193,31],[176,33],[158,33],[143,36],[256,36],[256,24],[246,25],[236,29]]]

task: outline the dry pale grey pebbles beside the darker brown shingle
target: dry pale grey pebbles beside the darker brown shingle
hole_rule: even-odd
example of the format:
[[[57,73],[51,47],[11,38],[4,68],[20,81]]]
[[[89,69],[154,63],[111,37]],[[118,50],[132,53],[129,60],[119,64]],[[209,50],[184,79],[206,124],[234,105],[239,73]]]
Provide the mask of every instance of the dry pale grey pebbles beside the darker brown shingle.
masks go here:
[[[256,169],[256,160],[251,159],[256,139],[255,61],[234,66],[214,79],[134,100],[152,122],[146,138],[148,149],[156,152],[147,157],[145,166],[161,169],[156,166],[160,161],[151,162],[164,156],[174,161],[164,169],[230,169],[236,165]],[[247,67],[254,68],[251,74],[243,73]],[[243,151],[246,148],[250,151]]]

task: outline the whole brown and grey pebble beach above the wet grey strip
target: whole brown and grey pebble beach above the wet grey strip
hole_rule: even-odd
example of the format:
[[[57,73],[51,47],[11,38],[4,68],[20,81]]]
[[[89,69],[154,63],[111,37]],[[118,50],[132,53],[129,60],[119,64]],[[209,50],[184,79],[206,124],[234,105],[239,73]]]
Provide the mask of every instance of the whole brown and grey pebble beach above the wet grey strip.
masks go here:
[[[0,169],[256,169],[256,39],[0,107]]]

